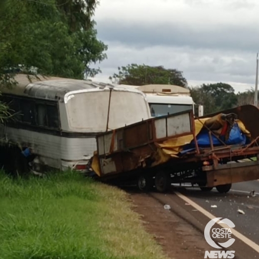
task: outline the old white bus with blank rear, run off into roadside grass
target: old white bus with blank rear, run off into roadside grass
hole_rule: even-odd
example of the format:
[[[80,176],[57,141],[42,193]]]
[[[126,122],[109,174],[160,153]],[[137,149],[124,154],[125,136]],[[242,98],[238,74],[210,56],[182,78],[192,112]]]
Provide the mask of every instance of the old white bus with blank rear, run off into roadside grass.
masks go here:
[[[5,142],[30,148],[34,170],[84,171],[96,150],[95,136],[151,117],[144,93],[85,80],[18,74],[17,86],[1,87],[14,117],[0,126]]]

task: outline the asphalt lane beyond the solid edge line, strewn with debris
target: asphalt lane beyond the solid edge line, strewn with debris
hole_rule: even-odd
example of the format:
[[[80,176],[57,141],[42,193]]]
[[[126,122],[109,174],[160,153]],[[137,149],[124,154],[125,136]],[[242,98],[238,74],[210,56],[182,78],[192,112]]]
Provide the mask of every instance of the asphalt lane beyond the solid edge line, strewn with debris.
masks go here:
[[[176,190],[212,215],[230,219],[235,224],[235,230],[259,245],[258,180],[233,184],[226,194],[220,194],[216,189],[211,192],[202,192],[199,188],[176,188]],[[252,190],[255,191],[255,197],[250,195]],[[212,208],[215,205],[216,208]],[[240,214],[238,210],[242,210],[245,214]],[[259,258],[259,255],[253,253],[253,258],[255,257]]]

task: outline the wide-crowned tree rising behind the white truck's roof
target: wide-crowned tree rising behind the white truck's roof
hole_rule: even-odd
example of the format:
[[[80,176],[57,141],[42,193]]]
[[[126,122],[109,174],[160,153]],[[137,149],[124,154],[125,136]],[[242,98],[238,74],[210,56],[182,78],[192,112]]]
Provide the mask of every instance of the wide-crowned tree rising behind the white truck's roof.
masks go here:
[[[126,67],[119,67],[119,73],[113,74],[109,79],[114,83],[124,85],[143,86],[149,84],[187,86],[186,79],[182,72],[176,69],[166,69],[163,66],[147,66],[130,64]]]

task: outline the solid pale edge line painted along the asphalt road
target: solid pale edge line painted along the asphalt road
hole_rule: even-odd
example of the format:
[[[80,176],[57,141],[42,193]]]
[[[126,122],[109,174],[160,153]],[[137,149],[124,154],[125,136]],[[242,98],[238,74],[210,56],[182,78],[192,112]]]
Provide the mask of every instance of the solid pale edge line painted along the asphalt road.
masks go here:
[[[206,211],[205,209],[203,209],[200,205],[198,205],[197,203],[193,202],[191,199],[189,199],[188,197],[186,197],[185,195],[175,191],[174,192],[179,198],[181,198],[182,200],[184,200],[186,203],[189,203],[192,207],[194,207],[196,210],[200,211],[203,215],[209,217],[210,219],[216,218],[216,216],[212,215],[211,213],[209,213],[208,211]],[[217,223],[218,224],[218,223]],[[218,224],[222,227],[225,227],[225,224]],[[245,244],[247,244],[248,246],[250,246],[252,249],[254,249],[257,253],[259,253],[259,245],[256,244],[255,242],[253,242],[252,240],[250,240],[249,238],[245,237],[244,235],[242,235],[241,233],[239,233],[237,230],[235,229],[231,229],[231,232],[234,236],[236,236],[238,239],[240,239],[241,241],[243,241]]]

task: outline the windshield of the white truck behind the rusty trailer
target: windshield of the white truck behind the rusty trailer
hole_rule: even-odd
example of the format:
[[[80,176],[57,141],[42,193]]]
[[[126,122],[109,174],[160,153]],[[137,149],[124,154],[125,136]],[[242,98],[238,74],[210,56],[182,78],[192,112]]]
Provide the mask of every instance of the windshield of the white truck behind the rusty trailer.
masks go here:
[[[191,104],[166,104],[166,103],[149,103],[152,117],[159,117],[177,112],[192,110]]]

